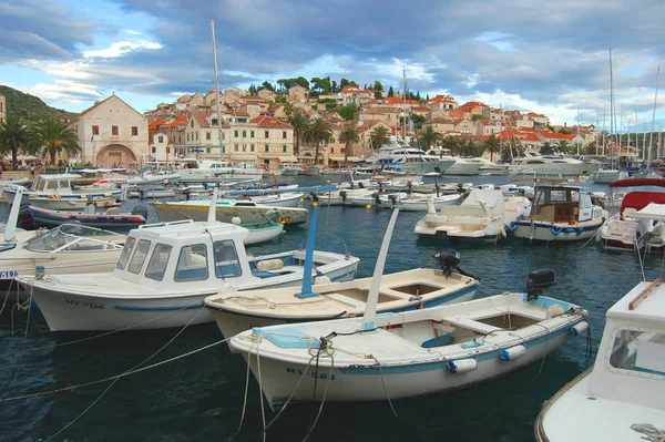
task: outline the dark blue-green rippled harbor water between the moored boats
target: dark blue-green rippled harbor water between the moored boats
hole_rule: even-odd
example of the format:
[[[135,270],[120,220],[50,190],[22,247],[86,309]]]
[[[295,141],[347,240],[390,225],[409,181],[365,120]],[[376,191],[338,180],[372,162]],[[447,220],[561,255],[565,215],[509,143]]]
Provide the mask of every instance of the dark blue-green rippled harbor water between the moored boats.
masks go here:
[[[284,177],[304,184],[323,177]],[[457,177],[504,184],[507,177]],[[451,179],[447,179],[451,181]],[[596,186],[607,191],[607,187]],[[129,201],[124,210],[145,202]],[[7,217],[7,208],[2,209]],[[316,248],[361,258],[358,277],[370,276],[389,210],[320,207]],[[546,296],[577,304],[590,312],[593,342],[600,342],[604,315],[642,278],[634,253],[607,253],[589,244],[529,245],[508,238],[494,244],[419,239],[418,213],[400,213],[386,273],[436,267],[432,255],[454,248],[460,266],[481,278],[477,297],[521,291],[530,270],[551,268],[557,284]],[[155,220],[149,208],[149,219]],[[289,227],[254,255],[305,244],[309,225]],[[644,259],[647,278],[661,277],[662,256]],[[214,323],[104,336],[53,336],[39,311],[14,307],[12,291],[0,316],[0,440],[2,441],[257,441],[264,428],[258,384]],[[192,312],[193,315],[196,311]],[[509,377],[447,395],[374,403],[326,403],[313,441],[532,441],[543,401],[582,372],[584,338],[571,340],[539,363]],[[172,361],[122,378],[117,374]],[[110,378],[108,381],[94,382]],[[115,379],[115,380],[114,380]],[[69,390],[71,386],[81,386]],[[64,391],[58,391],[65,389]],[[22,397],[28,397],[20,399]],[[19,399],[16,399],[19,398]],[[246,400],[243,425],[238,429]],[[318,404],[289,407],[267,430],[269,441],[299,441],[309,431]],[[265,420],[275,413],[266,407]]]

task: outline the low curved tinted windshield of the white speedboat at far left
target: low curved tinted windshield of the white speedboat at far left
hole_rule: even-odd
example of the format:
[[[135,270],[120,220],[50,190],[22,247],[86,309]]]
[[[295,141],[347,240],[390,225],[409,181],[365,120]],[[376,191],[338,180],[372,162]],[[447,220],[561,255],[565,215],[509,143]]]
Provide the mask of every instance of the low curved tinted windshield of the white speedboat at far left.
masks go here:
[[[30,251],[120,250],[125,237],[113,232],[75,224],[63,224],[25,241]]]

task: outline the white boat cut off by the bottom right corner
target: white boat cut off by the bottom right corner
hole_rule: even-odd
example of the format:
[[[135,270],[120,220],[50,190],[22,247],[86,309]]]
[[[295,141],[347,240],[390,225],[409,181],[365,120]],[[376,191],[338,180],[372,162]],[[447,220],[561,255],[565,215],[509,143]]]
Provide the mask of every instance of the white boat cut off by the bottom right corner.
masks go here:
[[[641,281],[607,310],[595,363],[545,401],[535,440],[662,441],[664,395],[665,286],[656,279]]]

